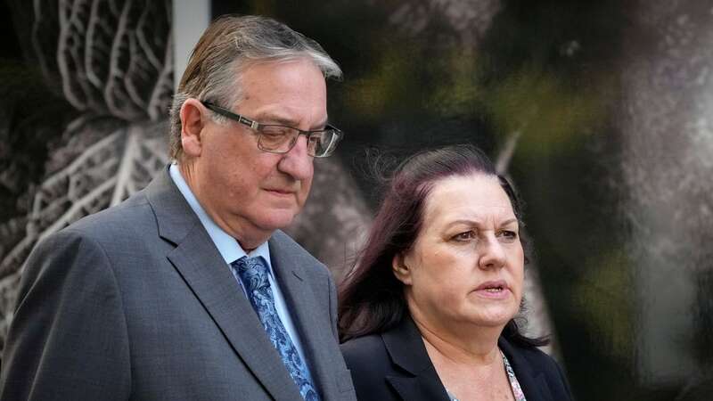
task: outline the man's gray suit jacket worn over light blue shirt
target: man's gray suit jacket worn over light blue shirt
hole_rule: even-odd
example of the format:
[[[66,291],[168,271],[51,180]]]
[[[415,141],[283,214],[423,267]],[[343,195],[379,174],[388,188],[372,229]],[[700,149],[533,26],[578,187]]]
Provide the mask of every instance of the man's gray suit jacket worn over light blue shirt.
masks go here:
[[[282,232],[275,279],[323,400],[354,400],[324,265]],[[168,171],[33,250],[0,398],[299,400],[250,302]]]

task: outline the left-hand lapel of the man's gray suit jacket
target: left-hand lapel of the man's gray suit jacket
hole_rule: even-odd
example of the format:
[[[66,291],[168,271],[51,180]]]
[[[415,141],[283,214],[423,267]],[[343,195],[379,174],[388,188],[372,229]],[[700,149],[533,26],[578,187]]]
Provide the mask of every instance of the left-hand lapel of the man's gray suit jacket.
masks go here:
[[[160,236],[176,244],[168,253],[168,259],[225,339],[272,397],[299,399],[299,391],[250,301],[243,295],[193,209],[171,181],[168,171],[147,188],[147,199],[156,214]]]

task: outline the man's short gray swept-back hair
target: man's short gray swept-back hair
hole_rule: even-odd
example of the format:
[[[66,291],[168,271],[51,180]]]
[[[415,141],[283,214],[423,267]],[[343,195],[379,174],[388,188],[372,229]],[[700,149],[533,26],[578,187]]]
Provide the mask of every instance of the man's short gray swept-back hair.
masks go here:
[[[281,22],[260,16],[224,15],[203,32],[188,61],[171,105],[169,154],[181,160],[181,107],[188,98],[216,102],[232,108],[239,102],[240,74],[264,61],[307,59],[324,78],[341,78],[339,65],[316,41]],[[220,116],[214,119],[222,120]]]

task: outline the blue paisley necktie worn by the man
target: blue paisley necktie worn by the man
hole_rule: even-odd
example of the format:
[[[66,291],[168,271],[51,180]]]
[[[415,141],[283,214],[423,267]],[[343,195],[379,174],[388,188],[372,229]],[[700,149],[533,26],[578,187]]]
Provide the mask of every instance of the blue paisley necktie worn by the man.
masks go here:
[[[248,293],[250,304],[258,313],[270,341],[282,356],[283,364],[299,388],[299,394],[306,401],[319,401],[319,396],[317,396],[315,387],[309,378],[307,365],[299,357],[297,348],[292,343],[275,310],[275,299],[273,299],[273,291],[270,290],[270,282],[267,281],[269,273],[263,258],[243,257],[231,263],[230,266],[234,268],[234,274],[237,273],[240,277],[242,285]]]

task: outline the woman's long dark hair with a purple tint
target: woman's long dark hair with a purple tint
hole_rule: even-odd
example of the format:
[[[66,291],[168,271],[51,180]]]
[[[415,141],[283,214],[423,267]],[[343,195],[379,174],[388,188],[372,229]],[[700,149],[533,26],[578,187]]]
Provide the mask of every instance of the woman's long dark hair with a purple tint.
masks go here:
[[[340,285],[341,341],[387,331],[408,314],[403,283],[392,273],[391,260],[409,250],[416,241],[421,231],[423,206],[434,184],[449,176],[473,173],[496,176],[510,198],[515,217],[520,220],[516,192],[497,174],[493,163],[479,148],[471,144],[453,145],[422,151],[406,159],[390,180],[355,268]],[[548,342],[521,334],[514,319],[505,325],[503,335],[524,346],[538,347]]]

